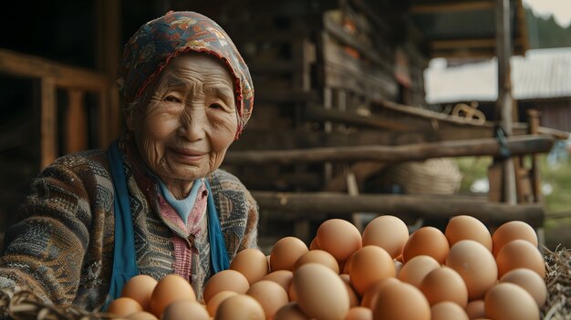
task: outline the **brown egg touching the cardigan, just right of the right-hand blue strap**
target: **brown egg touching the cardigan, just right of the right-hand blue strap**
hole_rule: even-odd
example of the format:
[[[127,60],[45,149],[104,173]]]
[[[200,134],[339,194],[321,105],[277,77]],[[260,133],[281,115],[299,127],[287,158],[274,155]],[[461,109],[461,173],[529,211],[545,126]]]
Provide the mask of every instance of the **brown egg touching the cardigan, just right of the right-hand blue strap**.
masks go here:
[[[236,253],[234,260],[230,263],[230,269],[244,274],[250,285],[262,279],[269,272],[265,254],[254,248]]]

